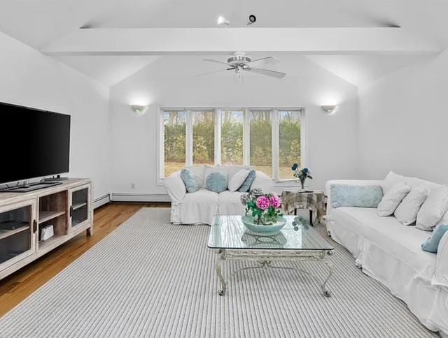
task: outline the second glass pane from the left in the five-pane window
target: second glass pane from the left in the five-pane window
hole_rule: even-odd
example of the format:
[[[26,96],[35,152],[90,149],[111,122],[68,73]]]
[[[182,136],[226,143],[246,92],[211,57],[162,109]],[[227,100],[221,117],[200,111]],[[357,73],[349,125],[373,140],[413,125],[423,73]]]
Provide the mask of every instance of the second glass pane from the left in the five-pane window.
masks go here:
[[[193,165],[215,163],[215,112],[193,112]]]

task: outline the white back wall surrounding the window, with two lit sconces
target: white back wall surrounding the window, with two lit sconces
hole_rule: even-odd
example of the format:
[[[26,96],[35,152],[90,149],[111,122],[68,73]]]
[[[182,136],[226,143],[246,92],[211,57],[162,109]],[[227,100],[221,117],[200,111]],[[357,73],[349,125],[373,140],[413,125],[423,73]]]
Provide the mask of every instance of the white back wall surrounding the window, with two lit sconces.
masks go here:
[[[315,188],[333,178],[357,177],[356,87],[323,68],[296,56],[279,56],[282,80],[248,74],[243,84],[235,74],[204,68],[202,57],[162,57],[144,70],[111,87],[111,184],[113,193],[165,194],[157,185],[158,107],[305,107],[307,166]],[[223,57],[221,57],[223,59]],[[260,65],[272,68],[272,65]],[[130,103],[151,103],[137,116]],[[337,103],[332,115],[319,105]],[[131,184],[135,189],[131,189]]]

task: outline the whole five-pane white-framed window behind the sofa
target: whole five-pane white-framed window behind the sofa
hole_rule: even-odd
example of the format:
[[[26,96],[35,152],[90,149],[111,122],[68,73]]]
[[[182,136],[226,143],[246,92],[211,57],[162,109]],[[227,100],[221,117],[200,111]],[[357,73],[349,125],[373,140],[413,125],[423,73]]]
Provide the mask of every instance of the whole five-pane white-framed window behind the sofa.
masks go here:
[[[301,108],[162,109],[160,179],[185,166],[246,164],[270,177],[293,179],[304,166]]]

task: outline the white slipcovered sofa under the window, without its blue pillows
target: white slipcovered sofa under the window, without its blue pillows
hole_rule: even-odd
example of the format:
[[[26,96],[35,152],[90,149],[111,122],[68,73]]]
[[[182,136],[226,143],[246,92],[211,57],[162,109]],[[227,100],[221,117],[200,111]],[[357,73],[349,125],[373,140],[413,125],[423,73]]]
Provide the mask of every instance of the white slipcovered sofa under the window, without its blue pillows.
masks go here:
[[[215,193],[205,189],[205,182],[210,172],[217,168],[228,181],[241,169],[248,166],[195,166],[188,168],[195,175],[201,189],[188,193],[182,181],[181,172],[176,171],[165,179],[165,188],[172,200],[171,221],[174,224],[205,223],[211,225],[217,214],[244,214],[244,205],[241,204],[239,191]],[[263,172],[256,171],[255,180],[251,189],[262,189],[270,192],[274,188],[274,181]]]

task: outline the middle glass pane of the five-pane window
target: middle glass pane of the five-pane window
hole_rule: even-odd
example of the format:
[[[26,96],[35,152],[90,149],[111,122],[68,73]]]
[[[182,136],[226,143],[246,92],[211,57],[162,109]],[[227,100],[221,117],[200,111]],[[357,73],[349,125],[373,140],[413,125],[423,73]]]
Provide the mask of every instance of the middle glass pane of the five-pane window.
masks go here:
[[[242,110],[221,110],[221,163],[243,164]]]

